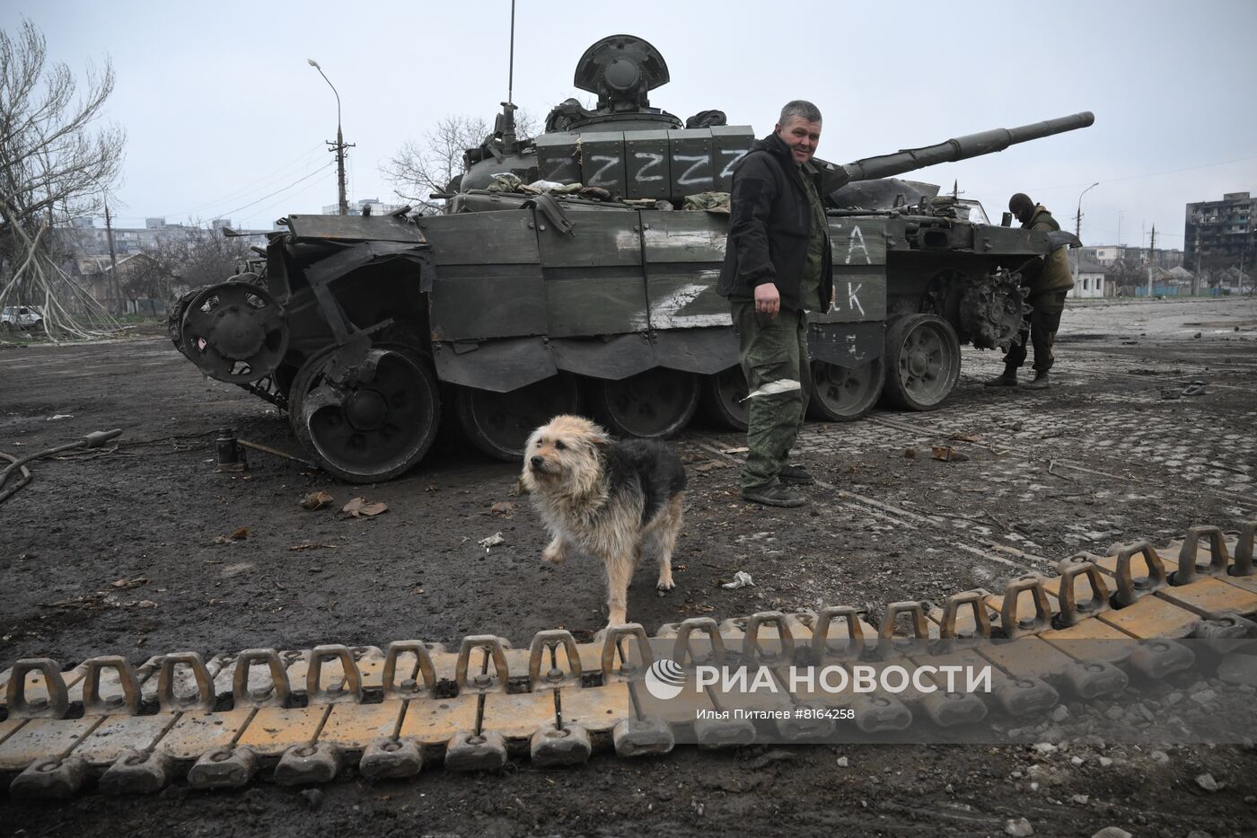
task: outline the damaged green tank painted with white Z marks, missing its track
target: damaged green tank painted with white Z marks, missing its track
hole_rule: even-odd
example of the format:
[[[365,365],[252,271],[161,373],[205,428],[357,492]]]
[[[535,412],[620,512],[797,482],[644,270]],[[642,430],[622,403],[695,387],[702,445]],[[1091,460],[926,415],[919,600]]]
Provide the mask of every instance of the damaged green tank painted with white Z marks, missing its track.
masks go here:
[[[715,293],[733,167],[755,135],[719,111],[650,106],[662,55],[631,35],[593,44],[546,132],[504,103],[465,155],[444,213],[289,215],[264,257],[170,315],[205,374],[287,408],[317,462],[349,482],[396,477],[444,423],[517,459],[556,413],[666,437],[700,401],[745,428],[728,303]],[[974,201],[896,176],[1091,125],[1090,113],[969,135],[822,171],[837,301],[810,318],[817,418],[882,396],[929,410],[960,344],[1022,340],[1023,277],[1068,233],[989,224]]]

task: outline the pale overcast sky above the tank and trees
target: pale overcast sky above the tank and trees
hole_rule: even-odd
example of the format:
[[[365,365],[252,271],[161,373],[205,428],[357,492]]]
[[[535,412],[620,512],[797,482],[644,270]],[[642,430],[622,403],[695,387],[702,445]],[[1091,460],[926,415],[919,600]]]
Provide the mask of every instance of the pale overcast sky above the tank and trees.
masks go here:
[[[1026,191],[1087,244],[1183,247],[1184,205],[1257,194],[1257,1],[1027,4],[519,0],[515,102],[542,118],[605,35],[651,42],[671,83],[651,104],[719,108],[772,130],[781,104],[825,115],[818,155],[846,162],[1077,111],[1095,126],[916,175],[953,180],[998,219]],[[212,4],[16,0],[50,58],[117,70],[108,117],[127,131],[116,224],[230,218],[269,228],[336,203],[336,99],[349,199],[393,200],[381,165],[446,115],[493,120],[507,96],[509,0]],[[1120,219],[1120,221],[1119,221]]]

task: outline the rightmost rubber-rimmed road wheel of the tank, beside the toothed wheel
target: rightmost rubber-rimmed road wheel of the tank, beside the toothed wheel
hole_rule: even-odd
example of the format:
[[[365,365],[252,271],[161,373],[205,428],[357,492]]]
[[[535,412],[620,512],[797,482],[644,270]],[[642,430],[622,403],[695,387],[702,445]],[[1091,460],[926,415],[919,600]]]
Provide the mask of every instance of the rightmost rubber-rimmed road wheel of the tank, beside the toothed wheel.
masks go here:
[[[936,315],[905,315],[886,330],[886,399],[908,410],[933,410],[960,377],[960,341]]]

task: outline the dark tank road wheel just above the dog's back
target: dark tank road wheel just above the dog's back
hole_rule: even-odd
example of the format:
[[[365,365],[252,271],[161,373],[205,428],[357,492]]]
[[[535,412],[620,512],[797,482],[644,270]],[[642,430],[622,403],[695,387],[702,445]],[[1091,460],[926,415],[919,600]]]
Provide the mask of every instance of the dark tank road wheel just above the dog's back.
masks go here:
[[[620,381],[595,379],[590,406],[617,437],[664,439],[694,418],[699,406],[699,377],[693,372],[657,367]]]

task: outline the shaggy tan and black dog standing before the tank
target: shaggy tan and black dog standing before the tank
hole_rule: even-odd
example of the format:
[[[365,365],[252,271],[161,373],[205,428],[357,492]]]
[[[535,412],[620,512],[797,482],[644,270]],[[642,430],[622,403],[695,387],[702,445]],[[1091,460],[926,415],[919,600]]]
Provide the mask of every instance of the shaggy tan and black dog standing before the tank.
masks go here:
[[[615,440],[581,416],[554,416],[528,438],[524,488],[552,541],[542,560],[572,551],[602,560],[608,625],[625,623],[628,580],[644,552],[659,559],[659,590],[671,590],[672,547],[681,528],[685,467],[666,445]]]

